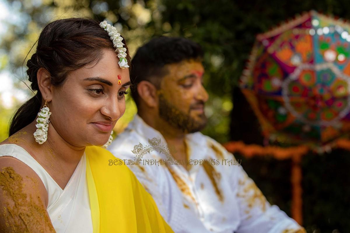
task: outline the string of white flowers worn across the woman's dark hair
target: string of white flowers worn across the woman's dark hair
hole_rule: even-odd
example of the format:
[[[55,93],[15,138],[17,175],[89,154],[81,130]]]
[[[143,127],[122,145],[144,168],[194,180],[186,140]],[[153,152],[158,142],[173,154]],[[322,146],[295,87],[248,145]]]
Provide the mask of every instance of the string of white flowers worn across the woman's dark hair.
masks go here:
[[[119,58],[119,66],[120,68],[129,68],[128,61],[126,60],[126,48],[123,46],[123,37],[120,36],[119,32],[115,27],[113,27],[111,24],[107,23],[107,21],[103,21],[100,23],[100,27],[105,29],[105,31],[108,32],[108,35],[111,37],[111,40],[113,41],[113,46],[116,48],[116,52],[118,53]]]

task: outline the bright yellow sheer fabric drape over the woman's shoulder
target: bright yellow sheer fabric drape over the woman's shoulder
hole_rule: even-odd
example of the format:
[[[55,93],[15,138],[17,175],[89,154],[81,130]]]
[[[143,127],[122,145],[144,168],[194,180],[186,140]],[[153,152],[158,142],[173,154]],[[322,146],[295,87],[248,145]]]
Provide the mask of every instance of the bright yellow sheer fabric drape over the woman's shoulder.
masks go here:
[[[85,154],[93,233],[173,232],[126,165],[109,166],[116,157],[97,146],[86,147]]]

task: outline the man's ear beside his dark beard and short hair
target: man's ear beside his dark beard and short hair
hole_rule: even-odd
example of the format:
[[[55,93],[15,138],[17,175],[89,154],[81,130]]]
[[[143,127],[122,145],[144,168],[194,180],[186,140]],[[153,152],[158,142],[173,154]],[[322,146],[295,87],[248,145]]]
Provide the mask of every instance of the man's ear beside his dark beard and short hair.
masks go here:
[[[158,105],[157,88],[149,81],[141,81],[137,84],[137,91],[141,99],[148,107],[155,108]]]

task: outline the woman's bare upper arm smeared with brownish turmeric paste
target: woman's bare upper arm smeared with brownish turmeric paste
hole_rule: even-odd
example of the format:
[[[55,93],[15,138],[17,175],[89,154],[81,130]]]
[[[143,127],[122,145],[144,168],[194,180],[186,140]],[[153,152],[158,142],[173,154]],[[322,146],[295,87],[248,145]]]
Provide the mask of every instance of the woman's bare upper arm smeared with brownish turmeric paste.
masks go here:
[[[54,233],[46,211],[47,191],[25,163],[0,158],[0,232]]]

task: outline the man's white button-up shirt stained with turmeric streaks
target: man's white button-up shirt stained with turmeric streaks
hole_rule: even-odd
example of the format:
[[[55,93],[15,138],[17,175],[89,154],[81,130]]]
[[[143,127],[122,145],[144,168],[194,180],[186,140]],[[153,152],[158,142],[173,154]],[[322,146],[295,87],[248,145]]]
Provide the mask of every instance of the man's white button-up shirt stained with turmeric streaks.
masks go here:
[[[154,146],[157,140],[160,143]],[[186,145],[192,161],[188,171],[181,165],[154,162],[167,159],[163,153],[166,140],[136,115],[108,150],[126,164],[141,158],[143,152],[140,164],[128,167],[177,233],[292,233],[303,229],[266,201],[240,163],[217,141],[196,132],[187,134]],[[205,165],[194,165],[204,160]]]

